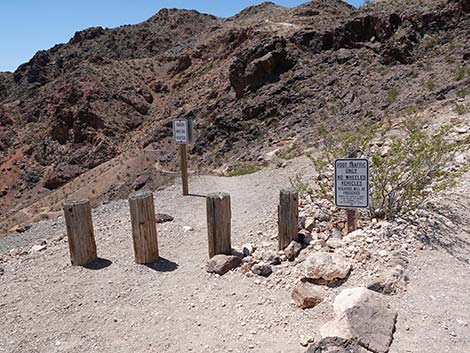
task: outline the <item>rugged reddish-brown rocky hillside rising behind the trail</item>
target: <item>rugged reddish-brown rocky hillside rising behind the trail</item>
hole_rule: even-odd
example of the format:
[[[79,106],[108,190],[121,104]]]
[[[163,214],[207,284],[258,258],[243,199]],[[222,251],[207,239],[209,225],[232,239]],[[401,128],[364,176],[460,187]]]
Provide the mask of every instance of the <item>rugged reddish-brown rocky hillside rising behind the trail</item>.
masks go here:
[[[155,168],[177,162],[176,117],[195,120],[192,168],[227,171],[295,154],[325,126],[457,102],[469,32],[469,0],[264,3],[227,19],[173,9],[77,32],[0,74],[1,231],[70,195],[158,186]]]

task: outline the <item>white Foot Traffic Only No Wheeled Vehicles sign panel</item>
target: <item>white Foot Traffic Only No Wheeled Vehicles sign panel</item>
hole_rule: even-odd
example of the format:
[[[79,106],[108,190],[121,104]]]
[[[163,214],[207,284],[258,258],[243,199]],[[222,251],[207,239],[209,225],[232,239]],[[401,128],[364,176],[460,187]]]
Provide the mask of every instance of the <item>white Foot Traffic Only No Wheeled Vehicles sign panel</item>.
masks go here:
[[[335,161],[335,204],[339,208],[369,207],[369,161],[345,158]]]

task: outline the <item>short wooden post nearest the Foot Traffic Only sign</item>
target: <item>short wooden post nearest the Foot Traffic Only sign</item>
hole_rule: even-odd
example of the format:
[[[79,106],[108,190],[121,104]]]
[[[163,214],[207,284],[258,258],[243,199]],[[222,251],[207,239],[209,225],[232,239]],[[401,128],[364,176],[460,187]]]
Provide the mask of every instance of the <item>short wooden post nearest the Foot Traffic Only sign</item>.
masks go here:
[[[279,250],[299,240],[299,193],[281,190],[278,206]]]

